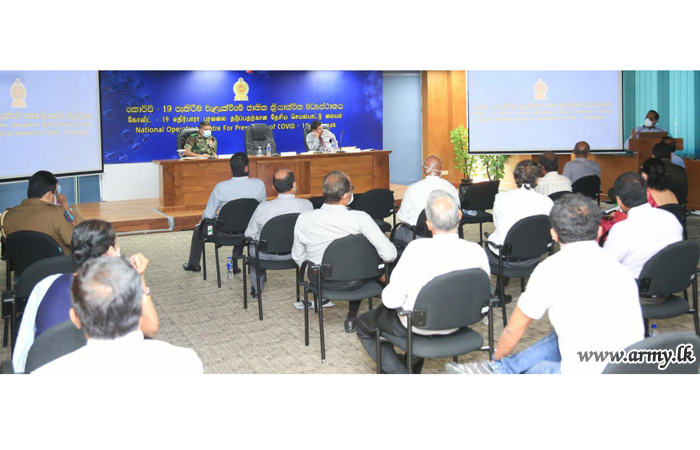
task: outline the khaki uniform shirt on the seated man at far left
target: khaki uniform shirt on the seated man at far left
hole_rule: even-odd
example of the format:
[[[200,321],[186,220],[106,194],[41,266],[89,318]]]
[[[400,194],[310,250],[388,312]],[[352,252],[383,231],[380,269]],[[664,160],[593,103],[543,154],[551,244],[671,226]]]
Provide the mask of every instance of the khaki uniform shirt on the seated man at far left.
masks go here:
[[[70,255],[74,227],[63,216],[64,211],[61,206],[46,203],[38,198],[26,199],[4,214],[2,231],[6,236],[15,231],[44,233],[51,236],[66,255]]]

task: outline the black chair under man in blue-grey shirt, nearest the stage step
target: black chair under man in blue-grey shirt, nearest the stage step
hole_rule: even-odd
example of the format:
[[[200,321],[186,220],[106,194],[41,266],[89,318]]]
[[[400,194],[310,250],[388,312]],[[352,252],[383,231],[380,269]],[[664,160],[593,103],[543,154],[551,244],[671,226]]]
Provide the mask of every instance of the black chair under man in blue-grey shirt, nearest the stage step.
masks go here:
[[[206,243],[214,243],[216,253],[216,281],[221,287],[221,268],[219,263],[219,248],[242,246],[245,244],[245,229],[258,207],[258,201],[252,198],[239,198],[221,207],[216,219],[204,219],[199,224],[199,235],[204,241],[202,245],[202,275],[207,279]]]

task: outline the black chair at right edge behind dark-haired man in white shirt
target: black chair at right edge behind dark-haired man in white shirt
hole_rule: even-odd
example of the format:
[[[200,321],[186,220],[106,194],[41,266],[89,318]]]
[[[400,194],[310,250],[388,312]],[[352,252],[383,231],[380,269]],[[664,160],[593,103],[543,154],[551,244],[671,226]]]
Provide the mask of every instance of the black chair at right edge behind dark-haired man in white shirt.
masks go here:
[[[676,242],[660,250],[642,267],[637,279],[639,293],[643,296],[662,296],[666,299],[659,304],[642,302],[642,317],[644,332],[649,335],[650,319],[668,319],[692,314],[695,322],[695,334],[700,336],[698,322],[698,280],[696,276],[700,245],[695,241]],[[676,292],[684,291],[692,284],[693,307],[688,300],[681,298]]]

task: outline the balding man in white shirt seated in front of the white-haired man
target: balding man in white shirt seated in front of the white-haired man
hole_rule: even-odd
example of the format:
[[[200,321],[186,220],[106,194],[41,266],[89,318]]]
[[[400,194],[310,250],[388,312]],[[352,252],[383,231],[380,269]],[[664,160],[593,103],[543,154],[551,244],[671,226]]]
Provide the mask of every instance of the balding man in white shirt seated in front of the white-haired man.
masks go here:
[[[442,174],[442,161],[440,161],[440,158],[428,156],[423,161],[422,171],[425,174],[425,178],[413,183],[406,189],[398,212],[399,220],[411,226],[416,225],[418,216],[425,209],[428,196],[437,189],[447,192],[455,199],[457,205],[460,204],[457,188],[449,181],[440,178]],[[394,240],[406,244],[413,240],[413,233],[408,227],[398,227],[394,234]]]

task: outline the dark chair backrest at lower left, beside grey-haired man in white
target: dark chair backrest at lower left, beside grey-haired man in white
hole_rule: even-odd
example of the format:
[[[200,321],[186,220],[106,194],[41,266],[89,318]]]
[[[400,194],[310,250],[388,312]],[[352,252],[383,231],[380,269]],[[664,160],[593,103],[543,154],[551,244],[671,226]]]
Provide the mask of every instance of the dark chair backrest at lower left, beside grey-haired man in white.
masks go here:
[[[44,331],[29,348],[24,373],[32,373],[39,367],[85,346],[85,333],[66,320]]]

